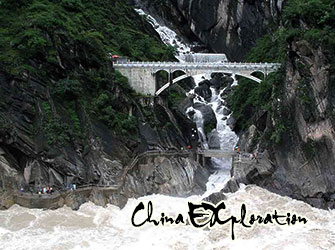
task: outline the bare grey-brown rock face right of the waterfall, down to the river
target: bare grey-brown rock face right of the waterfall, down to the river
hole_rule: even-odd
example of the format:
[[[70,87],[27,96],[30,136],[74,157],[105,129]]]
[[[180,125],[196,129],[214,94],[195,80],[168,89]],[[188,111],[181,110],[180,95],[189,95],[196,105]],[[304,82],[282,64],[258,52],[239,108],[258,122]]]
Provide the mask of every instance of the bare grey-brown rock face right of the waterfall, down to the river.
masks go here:
[[[335,208],[333,86],[334,72],[322,49],[313,49],[304,40],[292,41],[284,99],[279,103],[274,100],[274,105],[286,107],[286,112],[282,120],[265,114],[265,127],[259,124],[264,123],[264,115],[254,119],[240,137],[240,147],[243,151],[263,153],[258,163],[236,163],[231,182],[257,184],[316,207]],[[259,141],[260,135],[276,123],[286,124],[281,143],[269,146]],[[230,186],[236,187],[232,183]]]

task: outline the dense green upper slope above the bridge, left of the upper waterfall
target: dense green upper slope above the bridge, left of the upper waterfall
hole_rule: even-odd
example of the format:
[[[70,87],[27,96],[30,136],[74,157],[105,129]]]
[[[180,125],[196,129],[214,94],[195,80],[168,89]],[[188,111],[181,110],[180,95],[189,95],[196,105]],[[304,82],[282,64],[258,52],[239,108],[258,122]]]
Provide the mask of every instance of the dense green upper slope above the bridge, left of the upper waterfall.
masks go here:
[[[164,60],[173,52],[139,31],[148,26],[127,1],[1,1],[0,21],[0,61],[13,75],[99,68],[109,53]]]

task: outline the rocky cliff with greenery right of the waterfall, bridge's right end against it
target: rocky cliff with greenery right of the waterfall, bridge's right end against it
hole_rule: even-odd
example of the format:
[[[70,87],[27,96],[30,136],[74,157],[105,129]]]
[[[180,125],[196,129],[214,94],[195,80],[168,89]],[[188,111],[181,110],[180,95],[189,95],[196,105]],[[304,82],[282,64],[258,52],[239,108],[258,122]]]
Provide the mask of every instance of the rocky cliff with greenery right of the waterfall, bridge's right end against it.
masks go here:
[[[333,14],[322,18],[327,12]],[[258,55],[252,53],[256,60],[275,55],[283,66],[245,96],[242,113],[235,109],[238,121],[247,125],[239,145],[245,152],[258,152],[259,162],[236,163],[228,189],[235,189],[236,182],[254,183],[316,207],[335,207],[333,20],[329,2],[289,1],[277,40],[268,40],[267,46],[266,38],[254,51]],[[262,100],[259,93],[271,98]]]

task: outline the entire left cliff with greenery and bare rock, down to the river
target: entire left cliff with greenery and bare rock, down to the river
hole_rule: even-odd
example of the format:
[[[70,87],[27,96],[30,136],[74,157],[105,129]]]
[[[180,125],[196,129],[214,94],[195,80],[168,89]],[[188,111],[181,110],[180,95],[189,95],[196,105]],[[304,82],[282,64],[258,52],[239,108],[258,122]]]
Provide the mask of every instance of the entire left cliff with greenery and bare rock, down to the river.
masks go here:
[[[134,162],[146,151],[186,148],[195,125],[167,100],[135,93],[113,70],[112,53],[174,57],[133,5],[106,4],[0,3],[1,208],[21,188],[36,194],[47,186],[60,192],[71,184],[115,187],[65,197],[73,208],[88,200],[122,206],[149,193],[204,190],[208,171],[191,154]],[[27,15],[31,22],[23,21]]]

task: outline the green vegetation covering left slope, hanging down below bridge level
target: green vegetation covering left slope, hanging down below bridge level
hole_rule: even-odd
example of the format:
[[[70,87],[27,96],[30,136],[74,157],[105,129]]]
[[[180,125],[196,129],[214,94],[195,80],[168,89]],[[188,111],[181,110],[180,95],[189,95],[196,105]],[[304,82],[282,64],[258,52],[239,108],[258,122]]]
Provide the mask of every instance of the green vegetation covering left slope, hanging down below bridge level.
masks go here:
[[[138,95],[112,70],[110,55],[173,59],[174,48],[152,34],[128,1],[0,1],[0,70],[47,83],[51,98],[61,103],[53,111],[50,100],[43,104],[50,144],[84,139],[88,117],[131,135],[136,120],[129,109]]]

